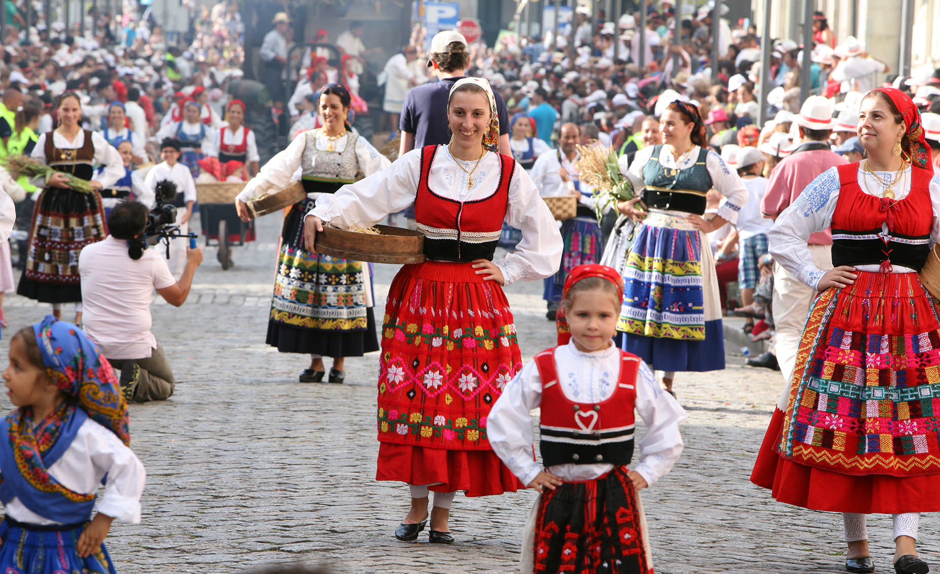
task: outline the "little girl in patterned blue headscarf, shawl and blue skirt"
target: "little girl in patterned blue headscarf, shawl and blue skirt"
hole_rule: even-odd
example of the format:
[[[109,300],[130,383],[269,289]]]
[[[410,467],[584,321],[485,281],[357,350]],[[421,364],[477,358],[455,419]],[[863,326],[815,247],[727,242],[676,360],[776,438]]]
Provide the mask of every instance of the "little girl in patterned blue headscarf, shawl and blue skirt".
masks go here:
[[[0,431],[0,569],[114,574],[102,542],[113,520],[140,521],[146,474],[111,365],[48,315],[13,335],[3,378],[17,409]]]

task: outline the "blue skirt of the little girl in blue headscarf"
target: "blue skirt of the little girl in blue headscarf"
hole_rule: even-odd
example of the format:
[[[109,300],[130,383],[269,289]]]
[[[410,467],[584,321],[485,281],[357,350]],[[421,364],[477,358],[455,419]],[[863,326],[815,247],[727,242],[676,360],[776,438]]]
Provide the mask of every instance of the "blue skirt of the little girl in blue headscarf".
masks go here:
[[[38,527],[47,528],[47,527]],[[56,528],[55,526],[52,528]],[[4,574],[59,574],[87,572],[116,574],[107,549],[80,558],[76,547],[85,524],[60,527],[63,530],[34,530],[28,525],[5,519],[0,523],[0,572]]]

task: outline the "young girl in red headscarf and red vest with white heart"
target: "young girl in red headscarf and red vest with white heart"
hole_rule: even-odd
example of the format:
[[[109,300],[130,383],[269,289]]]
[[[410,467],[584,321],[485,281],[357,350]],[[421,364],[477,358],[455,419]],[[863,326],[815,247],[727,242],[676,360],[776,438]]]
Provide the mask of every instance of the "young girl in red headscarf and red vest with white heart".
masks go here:
[[[493,451],[540,492],[525,528],[525,573],[653,571],[636,491],[679,458],[685,411],[646,363],[614,345],[622,297],[617,271],[574,268],[562,295],[568,326],[559,328],[559,346],[525,365],[490,411]],[[529,411],[538,408],[542,464],[532,457]],[[647,430],[631,470],[635,412]]]

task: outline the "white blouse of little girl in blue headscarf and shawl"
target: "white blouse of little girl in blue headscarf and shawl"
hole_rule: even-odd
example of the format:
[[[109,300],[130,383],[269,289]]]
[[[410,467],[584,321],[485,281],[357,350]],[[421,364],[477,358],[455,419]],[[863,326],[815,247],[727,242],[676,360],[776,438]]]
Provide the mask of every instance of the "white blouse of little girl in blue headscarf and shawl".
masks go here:
[[[140,522],[140,496],[147,478],[144,465],[113,432],[95,421],[87,419],[78,428],[69,448],[47,470],[62,486],[83,494],[97,492],[107,474],[98,511],[132,524]],[[15,497],[4,504],[4,512],[28,524],[59,523],[36,514]]]

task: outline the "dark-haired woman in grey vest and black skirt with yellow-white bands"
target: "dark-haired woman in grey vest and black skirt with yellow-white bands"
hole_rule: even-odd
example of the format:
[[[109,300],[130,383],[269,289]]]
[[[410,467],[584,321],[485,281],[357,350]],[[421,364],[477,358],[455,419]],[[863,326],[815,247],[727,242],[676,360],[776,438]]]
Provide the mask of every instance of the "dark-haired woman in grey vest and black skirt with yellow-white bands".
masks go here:
[[[390,162],[350,128],[350,94],[342,85],[323,87],[318,104],[323,127],[303,132],[261,168],[235,200],[243,221],[246,201],[285,187],[302,168],[307,198],[287,210],[274,278],[267,343],[280,352],[311,355],[301,382],[321,382],[323,357],[333,357],[328,380],[342,382],[346,357],[378,350],[368,263],[318,255],[304,248],[304,215],[321,194],[333,194],[359,174],[369,176]]]

